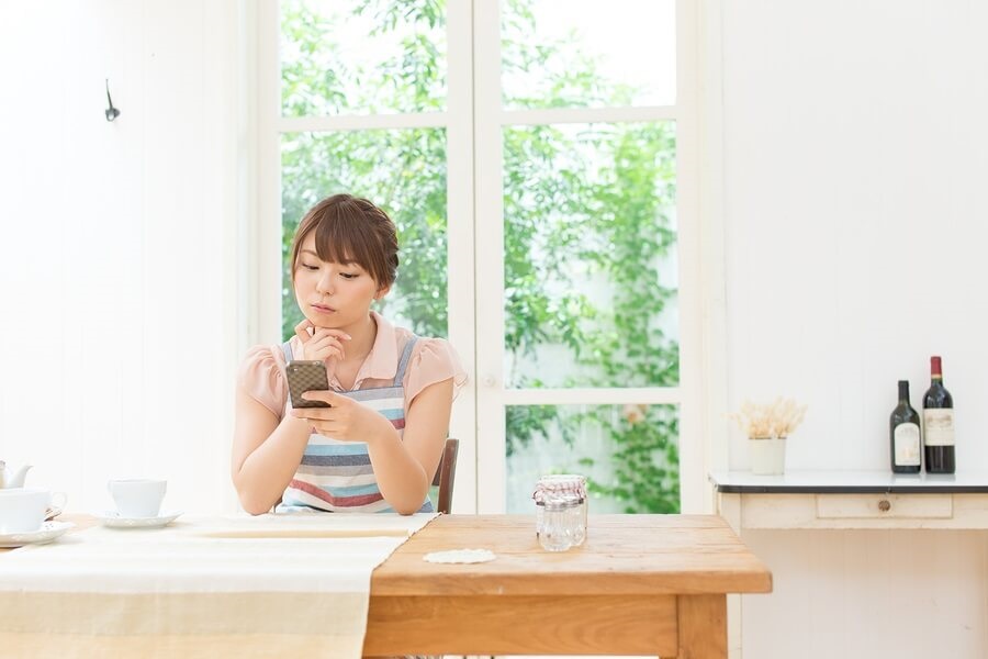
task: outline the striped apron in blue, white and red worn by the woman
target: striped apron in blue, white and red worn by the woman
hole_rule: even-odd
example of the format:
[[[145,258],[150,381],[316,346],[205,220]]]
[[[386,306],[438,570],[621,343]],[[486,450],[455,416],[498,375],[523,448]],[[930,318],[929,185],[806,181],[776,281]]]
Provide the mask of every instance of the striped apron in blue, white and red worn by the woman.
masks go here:
[[[338,392],[364,404],[391,421],[398,435],[405,427],[405,391],[402,387],[412,348],[418,337],[406,344],[391,387]],[[281,346],[285,362],[292,359],[289,343]],[[302,455],[302,462],[281,498],[276,512],[324,511],[355,513],[393,513],[378,487],[373,466],[364,442],[341,442],[313,432]],[[420,513],[431,513],[426,496]]]

